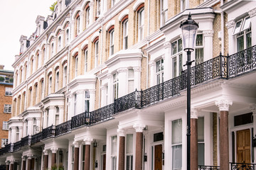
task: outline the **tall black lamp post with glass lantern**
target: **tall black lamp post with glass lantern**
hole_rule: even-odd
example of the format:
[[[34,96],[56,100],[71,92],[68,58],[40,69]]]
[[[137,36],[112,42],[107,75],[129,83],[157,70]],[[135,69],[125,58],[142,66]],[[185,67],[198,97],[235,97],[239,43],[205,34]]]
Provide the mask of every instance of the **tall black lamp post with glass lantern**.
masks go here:
[[[188,14],[188,19],[181,22],[183,50],[187,52],[188,60],[186,66],[188,67],[188,81],[187,81],[187,170],[191,169],[191,52],[194,50],[196,42],[196,33],[198,23],[192,20],[191,13]],[[185,66],[184,65],[184,66]]]

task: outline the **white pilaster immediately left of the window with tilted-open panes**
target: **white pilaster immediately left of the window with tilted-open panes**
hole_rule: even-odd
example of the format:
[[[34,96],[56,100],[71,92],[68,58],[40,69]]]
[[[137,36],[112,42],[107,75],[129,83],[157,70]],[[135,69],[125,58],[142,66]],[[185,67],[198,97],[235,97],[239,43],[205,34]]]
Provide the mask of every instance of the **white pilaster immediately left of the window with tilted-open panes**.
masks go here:
[[[228,21],[228,23],[226,23],[226,27],[228,28],[228,54],[234,54],[236,52],[235,37],[233,36],[234,26],[234,20]]]

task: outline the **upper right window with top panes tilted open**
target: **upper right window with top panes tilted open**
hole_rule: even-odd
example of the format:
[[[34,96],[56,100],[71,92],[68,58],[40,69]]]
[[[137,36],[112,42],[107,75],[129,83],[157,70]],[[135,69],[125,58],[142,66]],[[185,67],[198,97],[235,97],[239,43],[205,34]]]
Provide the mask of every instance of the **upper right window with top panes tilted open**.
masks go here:
[[[237,38],[238,52],[252,46],[252,31],[250,17],[242,18],[235,23],[233,34]]]

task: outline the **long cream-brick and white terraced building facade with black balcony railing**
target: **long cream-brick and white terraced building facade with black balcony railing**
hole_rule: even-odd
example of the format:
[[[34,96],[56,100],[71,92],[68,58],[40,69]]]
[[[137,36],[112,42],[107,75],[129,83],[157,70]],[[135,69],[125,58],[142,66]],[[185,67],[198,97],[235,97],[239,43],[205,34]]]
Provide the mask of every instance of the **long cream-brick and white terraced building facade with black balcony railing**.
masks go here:
[[[57,2],[20,38],[6,169],[186,169],[188,13],[191,169],[255,166],[256,1]]]

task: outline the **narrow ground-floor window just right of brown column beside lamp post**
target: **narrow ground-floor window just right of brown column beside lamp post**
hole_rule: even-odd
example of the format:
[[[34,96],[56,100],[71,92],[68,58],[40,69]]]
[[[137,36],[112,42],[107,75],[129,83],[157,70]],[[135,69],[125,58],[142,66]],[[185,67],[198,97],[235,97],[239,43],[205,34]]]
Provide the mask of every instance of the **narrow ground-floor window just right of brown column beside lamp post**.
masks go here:
[[[198,165],[204,165],[204,118],[198,118]]]

